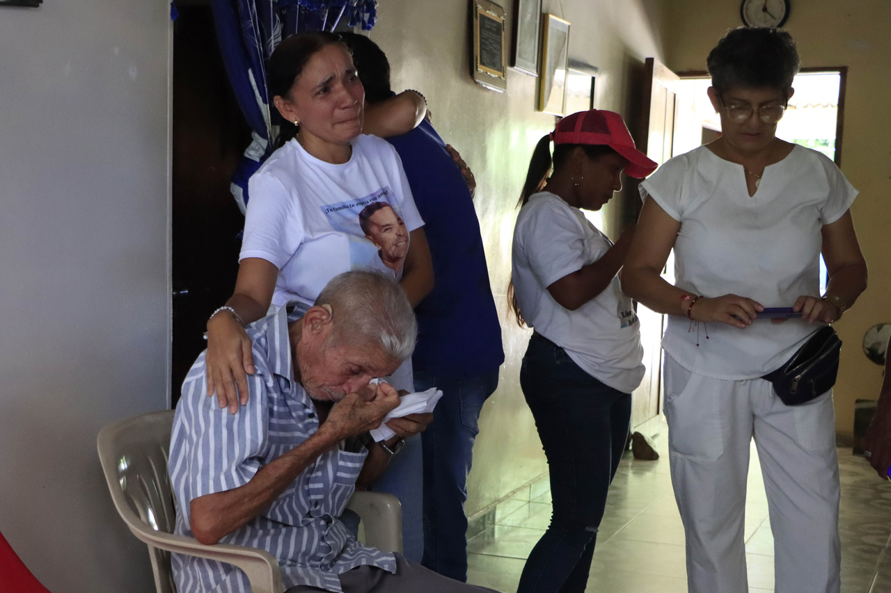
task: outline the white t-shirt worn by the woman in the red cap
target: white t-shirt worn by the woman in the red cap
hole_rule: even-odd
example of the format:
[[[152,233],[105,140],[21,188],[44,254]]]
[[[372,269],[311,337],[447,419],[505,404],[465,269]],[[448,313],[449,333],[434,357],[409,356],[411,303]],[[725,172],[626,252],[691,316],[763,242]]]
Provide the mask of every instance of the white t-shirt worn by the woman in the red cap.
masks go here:
[[[612,245],[581,210],[550,191],[536,193],[520,209],[513,232],[513,288],[528,325],[593,378],[630,394],[643,378],[643,348],[634,306],[618,278],[576,311],[560,306],[547,289]]]

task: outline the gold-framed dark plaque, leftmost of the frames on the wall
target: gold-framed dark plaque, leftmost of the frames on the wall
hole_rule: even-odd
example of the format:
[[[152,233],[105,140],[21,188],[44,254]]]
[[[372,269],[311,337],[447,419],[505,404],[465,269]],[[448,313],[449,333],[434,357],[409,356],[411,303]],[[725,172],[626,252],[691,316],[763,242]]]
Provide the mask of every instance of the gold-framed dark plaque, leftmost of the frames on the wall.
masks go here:
[[[489,0],[472,0],[473,48],[470,71],[473,80],[488,89],[507,90],[507,50],[504,45],[504,9]]]

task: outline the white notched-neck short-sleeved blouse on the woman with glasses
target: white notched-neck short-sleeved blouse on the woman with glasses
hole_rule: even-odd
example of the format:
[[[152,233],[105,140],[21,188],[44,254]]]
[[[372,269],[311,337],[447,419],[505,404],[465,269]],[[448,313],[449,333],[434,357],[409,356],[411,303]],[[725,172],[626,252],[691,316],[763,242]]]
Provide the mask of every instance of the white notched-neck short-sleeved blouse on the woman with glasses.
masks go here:
[[[844,215],[857,195],[835,163],[802,146],[764,169],[754,196],[742,166],[705,146],[672,158],[640,188],[643,199],[655,199],[681,223],[677,287],[748,296],[765,307],[820,296],[822,227]],[[779,369],[820,327],[803,320],[756,320],[746,329],[708,323],[698,340],[689,320],[669,315],[662,347],[698,375],[756,378]]]

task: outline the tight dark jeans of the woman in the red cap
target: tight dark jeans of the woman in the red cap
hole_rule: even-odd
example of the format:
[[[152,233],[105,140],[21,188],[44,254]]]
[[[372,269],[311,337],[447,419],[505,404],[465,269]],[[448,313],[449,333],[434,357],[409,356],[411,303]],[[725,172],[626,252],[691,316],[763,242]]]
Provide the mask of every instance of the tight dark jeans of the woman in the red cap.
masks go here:
[[[631,420],[631,394],[603,385],[563,348],[533,334],[519,385],[551,471],[551,525],[523,568],[518,593],[584,593],[609,483]]]

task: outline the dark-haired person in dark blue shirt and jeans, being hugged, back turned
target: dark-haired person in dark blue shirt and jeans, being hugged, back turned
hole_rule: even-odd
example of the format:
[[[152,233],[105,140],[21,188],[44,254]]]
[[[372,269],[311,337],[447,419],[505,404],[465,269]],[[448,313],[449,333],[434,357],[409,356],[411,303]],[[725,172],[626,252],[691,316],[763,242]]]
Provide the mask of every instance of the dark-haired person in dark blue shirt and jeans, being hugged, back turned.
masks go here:
[[[393,96],[387,56],[371,39],[343,33],[365,101]],[[387,139],[402,158],[405,176],[424,220],[436,284],[415,309],[418,345],[414,387],[437,387],[443,397],[421,436],[424,456],[422,565],[467,580],[467,475],[478,434],[479,411],[498,386],[504,361],[486,254],[471,188],[473,174],[429,121]]]

